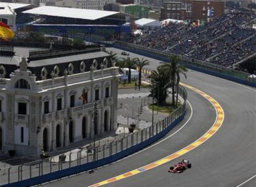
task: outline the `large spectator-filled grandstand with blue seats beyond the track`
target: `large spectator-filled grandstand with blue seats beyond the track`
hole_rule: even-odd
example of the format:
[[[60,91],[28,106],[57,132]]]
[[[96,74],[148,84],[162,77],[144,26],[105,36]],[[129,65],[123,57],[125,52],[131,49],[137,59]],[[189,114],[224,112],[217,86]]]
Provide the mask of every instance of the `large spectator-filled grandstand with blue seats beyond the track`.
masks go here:
[[[234,68],[256,54],[256,32],[248,26],[255,19],[254,12],[228,12],[203,26],[169,23],[131,42],[184,55],[191,60]]]

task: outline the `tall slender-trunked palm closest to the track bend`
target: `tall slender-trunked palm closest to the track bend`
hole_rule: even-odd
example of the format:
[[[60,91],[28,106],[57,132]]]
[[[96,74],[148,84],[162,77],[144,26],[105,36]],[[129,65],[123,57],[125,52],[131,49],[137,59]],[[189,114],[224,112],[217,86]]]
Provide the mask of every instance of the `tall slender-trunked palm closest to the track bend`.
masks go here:
[[[169,74],[169,81],[171,82],[172,94],[173,94],[173,105],[176,104],[177,106],[177,95],[176,95],[176,102],[175,102],[175,86],[176,86],[176,94],[178,87],[180,76],[179,74],[184,74],[185,78],[187,78],[185,72],[187,72],[187,68],[182,66],[180,63],[180,58],[175,56],[169,57],[169,62],[161,65]]]

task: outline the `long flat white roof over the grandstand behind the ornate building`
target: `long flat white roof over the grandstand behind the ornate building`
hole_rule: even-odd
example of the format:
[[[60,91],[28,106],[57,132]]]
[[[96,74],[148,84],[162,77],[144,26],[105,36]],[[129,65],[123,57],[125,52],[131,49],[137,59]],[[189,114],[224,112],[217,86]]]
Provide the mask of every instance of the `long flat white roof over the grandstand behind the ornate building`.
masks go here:
[[[79,18],[84,20],[97,20],[119,12],[105,10],[74,9],[67,7],[41,6],[35,9],[26,10],[25,14],[49,15],[56,17]]]

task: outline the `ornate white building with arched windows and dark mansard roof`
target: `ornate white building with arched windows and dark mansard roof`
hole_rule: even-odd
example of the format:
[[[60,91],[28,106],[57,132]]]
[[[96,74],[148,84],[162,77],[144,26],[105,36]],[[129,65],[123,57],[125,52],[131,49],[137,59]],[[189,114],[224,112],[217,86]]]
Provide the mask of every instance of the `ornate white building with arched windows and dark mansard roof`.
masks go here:
[[[0,55],[0,151],[39,155],[115,130],[118,79],[100,48]]]

